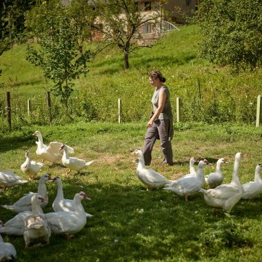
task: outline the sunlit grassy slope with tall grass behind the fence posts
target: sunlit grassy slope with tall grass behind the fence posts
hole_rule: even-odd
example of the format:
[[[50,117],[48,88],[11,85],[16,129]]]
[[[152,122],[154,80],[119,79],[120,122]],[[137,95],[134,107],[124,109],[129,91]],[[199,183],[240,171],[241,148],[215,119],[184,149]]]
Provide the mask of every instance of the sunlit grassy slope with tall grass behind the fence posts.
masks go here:
[[[163,72],[170,87],[176,110],[181,97],[183,121],[217,123],[234,121],[254,124],[256,97],[261,94],[262,71],[230,74],[228,68],[214,66],[199,59],[200,35],[197,26],[184,26],[165,35],[152,48],[130,55],[130,70],[123,69],[123,55],[107,50],[90,63],[90,72],[76,81],[70,102],[72,119],[52,97],[54,123],[65,121],[117,121],[117,99],[123,103],[123,121],[146,121],[150,115],[152,88],[148,71]],[[14,127],[48,123],[45,92],[51,83],[43,80],[38,68],[25,59],[26,46],[16,46],[0,58],[3,68],[1,82],[1,112],[5,117],[6,91],[11,92]],[[32,117],[26,118],[27,99],[32,101]],[[1,121],[3,128],[6,122]]]

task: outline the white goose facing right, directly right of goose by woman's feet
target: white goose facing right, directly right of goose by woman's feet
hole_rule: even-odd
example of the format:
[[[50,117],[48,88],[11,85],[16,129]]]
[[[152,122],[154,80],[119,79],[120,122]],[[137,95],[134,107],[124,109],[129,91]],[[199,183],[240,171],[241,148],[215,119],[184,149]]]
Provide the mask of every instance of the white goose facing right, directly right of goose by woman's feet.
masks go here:
[[[208,160],[204,159],[199,161],[199,169],[196,174],[191,176],[185,175],[180,179],[172,181],[168,187],[163,188],[164,190],[172,190],[179,196],[185,196],[185,201],[188,201],[188,196],[192,196],[199,192],[199,188],[204,185],[204,167],[208,165]]]

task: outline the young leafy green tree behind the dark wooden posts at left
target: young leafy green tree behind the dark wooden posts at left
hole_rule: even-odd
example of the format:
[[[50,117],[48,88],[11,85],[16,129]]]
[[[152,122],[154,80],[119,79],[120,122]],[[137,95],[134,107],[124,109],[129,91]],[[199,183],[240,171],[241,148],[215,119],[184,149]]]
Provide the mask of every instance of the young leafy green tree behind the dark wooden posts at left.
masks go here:
[[[79,54],[77,28],[68,17],[68,10],[57,0],[36,6],[28,14],[28,24],[34,28],[39,48],[28,45],[27,59],[41,67],[44,77],[54,82],[51,91],[68,108],[72,80],[88,73],[90,50]]]

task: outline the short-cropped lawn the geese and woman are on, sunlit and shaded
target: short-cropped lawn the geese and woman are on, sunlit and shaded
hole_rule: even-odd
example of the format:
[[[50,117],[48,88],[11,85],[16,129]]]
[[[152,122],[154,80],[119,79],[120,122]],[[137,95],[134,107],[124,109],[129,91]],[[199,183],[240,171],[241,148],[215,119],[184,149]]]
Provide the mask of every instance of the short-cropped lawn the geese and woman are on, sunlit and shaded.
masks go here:
[[[168,179],[176,179],[189,170],[190,157],[205,157],[213,165],[219,157],[228,159],[223,165],[224,183],[231,180],[234,154],[243,153],[240,179],[253,181],[254,168],[261,163],[262,129],[251,125],[207,125],[179,123],[172,141],[175,165],[159,166],[162,160],[159,141],[154,145],[152,168]],[[228,218],[214,214],[201,194],[188,203],[172,192],[148,192],[136,175],[136,157],[130,152],[141,148],[145,123],[78,123],[70,125],[21,128],[0,133],[0,169],[12,170],[21,177],[24,152],[40,160],[32,133],[40,130],[44,143],[68,143],[74,156],[96,160],[83,174],[63,176],[65,168],[47,163],[41,174],[48,172],[63,181],[64,196],[72,199],[84,191],[92,201],[83,202],[93,214],[85,228],[67,241],[52,234],[50,245],[24,249],[23,237],[4,236],[17,249],[16,261],[257,261],[262,248],[262,197],[254,202],[239,201]],[[37,190],[37,181],[0,192],[0,204],[17,201],[28,191]],[[57,193],[48,183],[49,203],[44,212],[52,212]],[[14,214],[1,209],[0,219],[7,221]],[[143,212],[141,210],[143,209]]]

